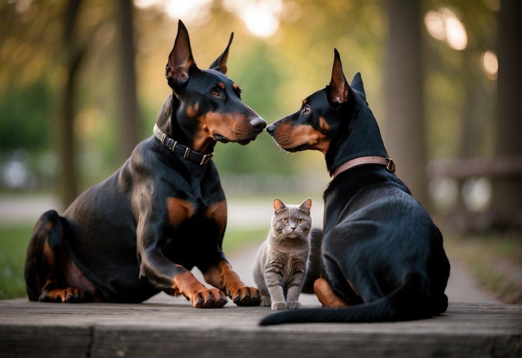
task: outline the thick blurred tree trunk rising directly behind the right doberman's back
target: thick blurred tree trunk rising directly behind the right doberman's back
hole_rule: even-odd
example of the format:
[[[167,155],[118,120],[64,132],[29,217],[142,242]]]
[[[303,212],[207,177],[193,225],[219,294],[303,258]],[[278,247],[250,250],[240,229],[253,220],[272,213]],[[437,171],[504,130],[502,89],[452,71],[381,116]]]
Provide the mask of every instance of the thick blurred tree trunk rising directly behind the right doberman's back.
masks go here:
[[[429,207],[426,184],[421,2],[387,0],[386,148],[397,175],[413,196]]]

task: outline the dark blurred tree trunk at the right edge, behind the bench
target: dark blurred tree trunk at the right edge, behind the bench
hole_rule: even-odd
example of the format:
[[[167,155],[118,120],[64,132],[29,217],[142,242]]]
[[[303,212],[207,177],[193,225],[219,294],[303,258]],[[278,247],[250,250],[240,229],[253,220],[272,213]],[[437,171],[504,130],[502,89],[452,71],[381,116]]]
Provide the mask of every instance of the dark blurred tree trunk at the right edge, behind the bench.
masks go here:
[[[502,0],[497,17],[496,156],[522,155],[522,6],[520,0]],[[522,208],[522,183],[516,178],[493,181],[493,209],[511,216]]]

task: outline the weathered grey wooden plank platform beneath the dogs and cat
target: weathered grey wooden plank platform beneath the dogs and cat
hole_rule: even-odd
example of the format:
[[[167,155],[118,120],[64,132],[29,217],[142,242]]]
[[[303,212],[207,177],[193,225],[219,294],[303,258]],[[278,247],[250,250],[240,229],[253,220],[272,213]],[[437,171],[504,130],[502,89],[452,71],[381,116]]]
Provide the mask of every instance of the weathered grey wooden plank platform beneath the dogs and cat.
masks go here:
[[[450,304],[444,316],[383,324],[259,327],[271,311],[171,304],[0,302],[0,356],[520,357],[522,306]]]

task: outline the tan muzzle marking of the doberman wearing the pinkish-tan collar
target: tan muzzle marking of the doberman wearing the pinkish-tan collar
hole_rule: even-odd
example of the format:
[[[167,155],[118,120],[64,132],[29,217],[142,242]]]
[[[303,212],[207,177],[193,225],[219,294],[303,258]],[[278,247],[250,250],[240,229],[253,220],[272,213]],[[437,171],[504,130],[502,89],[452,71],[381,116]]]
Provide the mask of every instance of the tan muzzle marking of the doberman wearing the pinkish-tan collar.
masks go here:
[[[326,135],[309,124],[281,123],[277,126],[273,136],[283,149],[292,149],[307,143],[309,145],[307,149],[318,150],[326,154],[330,145]]]

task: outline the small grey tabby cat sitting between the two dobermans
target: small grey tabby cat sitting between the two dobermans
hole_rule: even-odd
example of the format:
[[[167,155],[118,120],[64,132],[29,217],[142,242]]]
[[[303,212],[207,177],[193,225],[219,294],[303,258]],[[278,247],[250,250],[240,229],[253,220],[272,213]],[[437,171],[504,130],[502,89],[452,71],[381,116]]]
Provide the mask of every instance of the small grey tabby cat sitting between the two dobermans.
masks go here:
[[[261,291],[261,305],[272,309],[301,308],[299,294],[310,252],[312,199],[301,205],[284,205],[274,199],[272,228],[259,247],[254,279]]]

